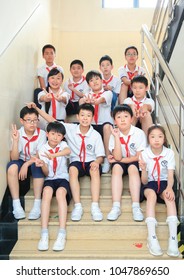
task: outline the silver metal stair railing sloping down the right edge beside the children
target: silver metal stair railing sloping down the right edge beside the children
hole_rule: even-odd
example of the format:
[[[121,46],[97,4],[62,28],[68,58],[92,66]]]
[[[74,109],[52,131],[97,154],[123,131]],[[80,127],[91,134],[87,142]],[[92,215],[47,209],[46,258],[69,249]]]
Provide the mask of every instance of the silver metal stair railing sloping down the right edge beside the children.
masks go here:
[[[180,217],[184,216],[184,95],[178,86],[175,77],[173,76],[168,63],[164,60],[157,42],[155,41],[153,35],[148,30],[146,25],[142,26],[142,66],[145,68],[148,79],[150,80],[150,85],[155,97],[155,112],[156,120],[159,122],[159,112],[164,116],[164,121],[166,123],[167,129],[170,133],[172,141],[174,143],[174,148],[177,151],[179,157],[179,164],[176,168],[175,174],[177,178],[177,189],[180,193],[179,209],[178,215]],[[151,53],[150,53],[151,52]],[[149,63],[149,65],[148,65]],[[163,79],[160,76],[160,69],[164,72],[164,79],[166,78],[169,82],[169,86],[172,88],[174,95],[179,103],[179,110],[177,111],[173,100],[165,89]],[[165,100],[172,111],[175,119],[175,123],[179,128],[179,135],[173,131],[173,125],[170,121],[170,116],[162,104],[159,96],[159,92],[162,90]]]

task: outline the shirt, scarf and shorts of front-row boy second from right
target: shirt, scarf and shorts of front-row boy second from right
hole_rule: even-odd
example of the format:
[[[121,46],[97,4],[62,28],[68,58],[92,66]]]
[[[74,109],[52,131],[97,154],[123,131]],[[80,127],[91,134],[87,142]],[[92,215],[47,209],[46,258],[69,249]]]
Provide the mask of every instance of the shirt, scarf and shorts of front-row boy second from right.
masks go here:
[[[120,132],[120,141],[121,141],[121,151],[122,151],[122,158],[135,156],[137,152],[140,152],[145,149],[147,145],[146,135],[142,129],[139,129],[133,125],[130,127],[130,131],[128,135],[123,135]],[[114,136],[111,134],[109,139],[109,151],[112,153],[115,147]],[[128,167],[133,164],[138,168],[138,162],[131,162],[128,164],[115,162],[112,164],[112,167],[115,164],[121,165],[122,169],[124,170],[124,174],[127,174]]]

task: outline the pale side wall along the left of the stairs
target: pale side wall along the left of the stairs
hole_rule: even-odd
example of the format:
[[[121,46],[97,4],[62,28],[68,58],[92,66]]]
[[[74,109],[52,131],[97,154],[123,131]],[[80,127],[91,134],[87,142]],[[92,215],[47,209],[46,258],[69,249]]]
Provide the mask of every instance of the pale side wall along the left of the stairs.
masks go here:
[[[10,9],[11,7],[11,9]],[[32,100],[41,47],[51,40],[49,0],[10,0],[1,3],[0,35],[0,204],[6,188],[11,123]],[[9,14],[8,14],[9,13]]]

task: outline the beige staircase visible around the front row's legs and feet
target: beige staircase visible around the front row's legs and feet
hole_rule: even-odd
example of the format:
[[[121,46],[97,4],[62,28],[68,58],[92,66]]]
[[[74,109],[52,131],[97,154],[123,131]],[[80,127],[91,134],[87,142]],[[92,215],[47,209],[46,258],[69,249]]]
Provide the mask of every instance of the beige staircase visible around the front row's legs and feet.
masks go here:
[[[128,177],[124,178],[124,191],[122,196],[122,215],[117,221],[107,221],[107,213],[112,206],[111,201],[111,174],[103,174],[101,177],[100,207],[104,214],[101,222],[91,219],[90,206],[90,180],[83,177],[81,182],[81,201],[84,207],[84,215],[80,222],[72,222],[70,214],[73,209],[71,201],[68,207],[67,219],[67,243],[64,251],[54,252],[52,246],[58,231],[57,203],[52,200],[49,233],[49,250],[40,252],[37,250],[40,238],[41,222],[27,219],[18,222],[18,241],[15,244],[9,258],[10,260],[47,260],[47,259],[171,259],[166,254],[168,226],[166,220],[166,207],[157,204],[156,217],[158,220],[157,235],[160,245],[164,250],[161,257],[152,256],[146,246],[147,228],[145,222],[134,222],[131,212],[131,197],[128,190]],[[33,190],[30,189],[25,196],[25,210],[28,213],[33,205]],[[145,202],[141,208],[145,213]]]

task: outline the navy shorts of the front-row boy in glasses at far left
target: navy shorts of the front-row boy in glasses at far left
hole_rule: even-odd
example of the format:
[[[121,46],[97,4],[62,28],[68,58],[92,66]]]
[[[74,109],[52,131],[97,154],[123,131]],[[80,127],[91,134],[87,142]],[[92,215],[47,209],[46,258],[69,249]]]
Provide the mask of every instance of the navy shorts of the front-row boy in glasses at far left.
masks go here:
[[[16,164],[18,166],[18,172],[20,171],[22,165],[25,163],[22,159],[12,160],[7,164],[7,170],[12,164]],[[42,172],[41,167],[36,167],[35,163],[31,164],[28,167],[28,176],[32,175],[33,178],[44,178],[44,174]]]

